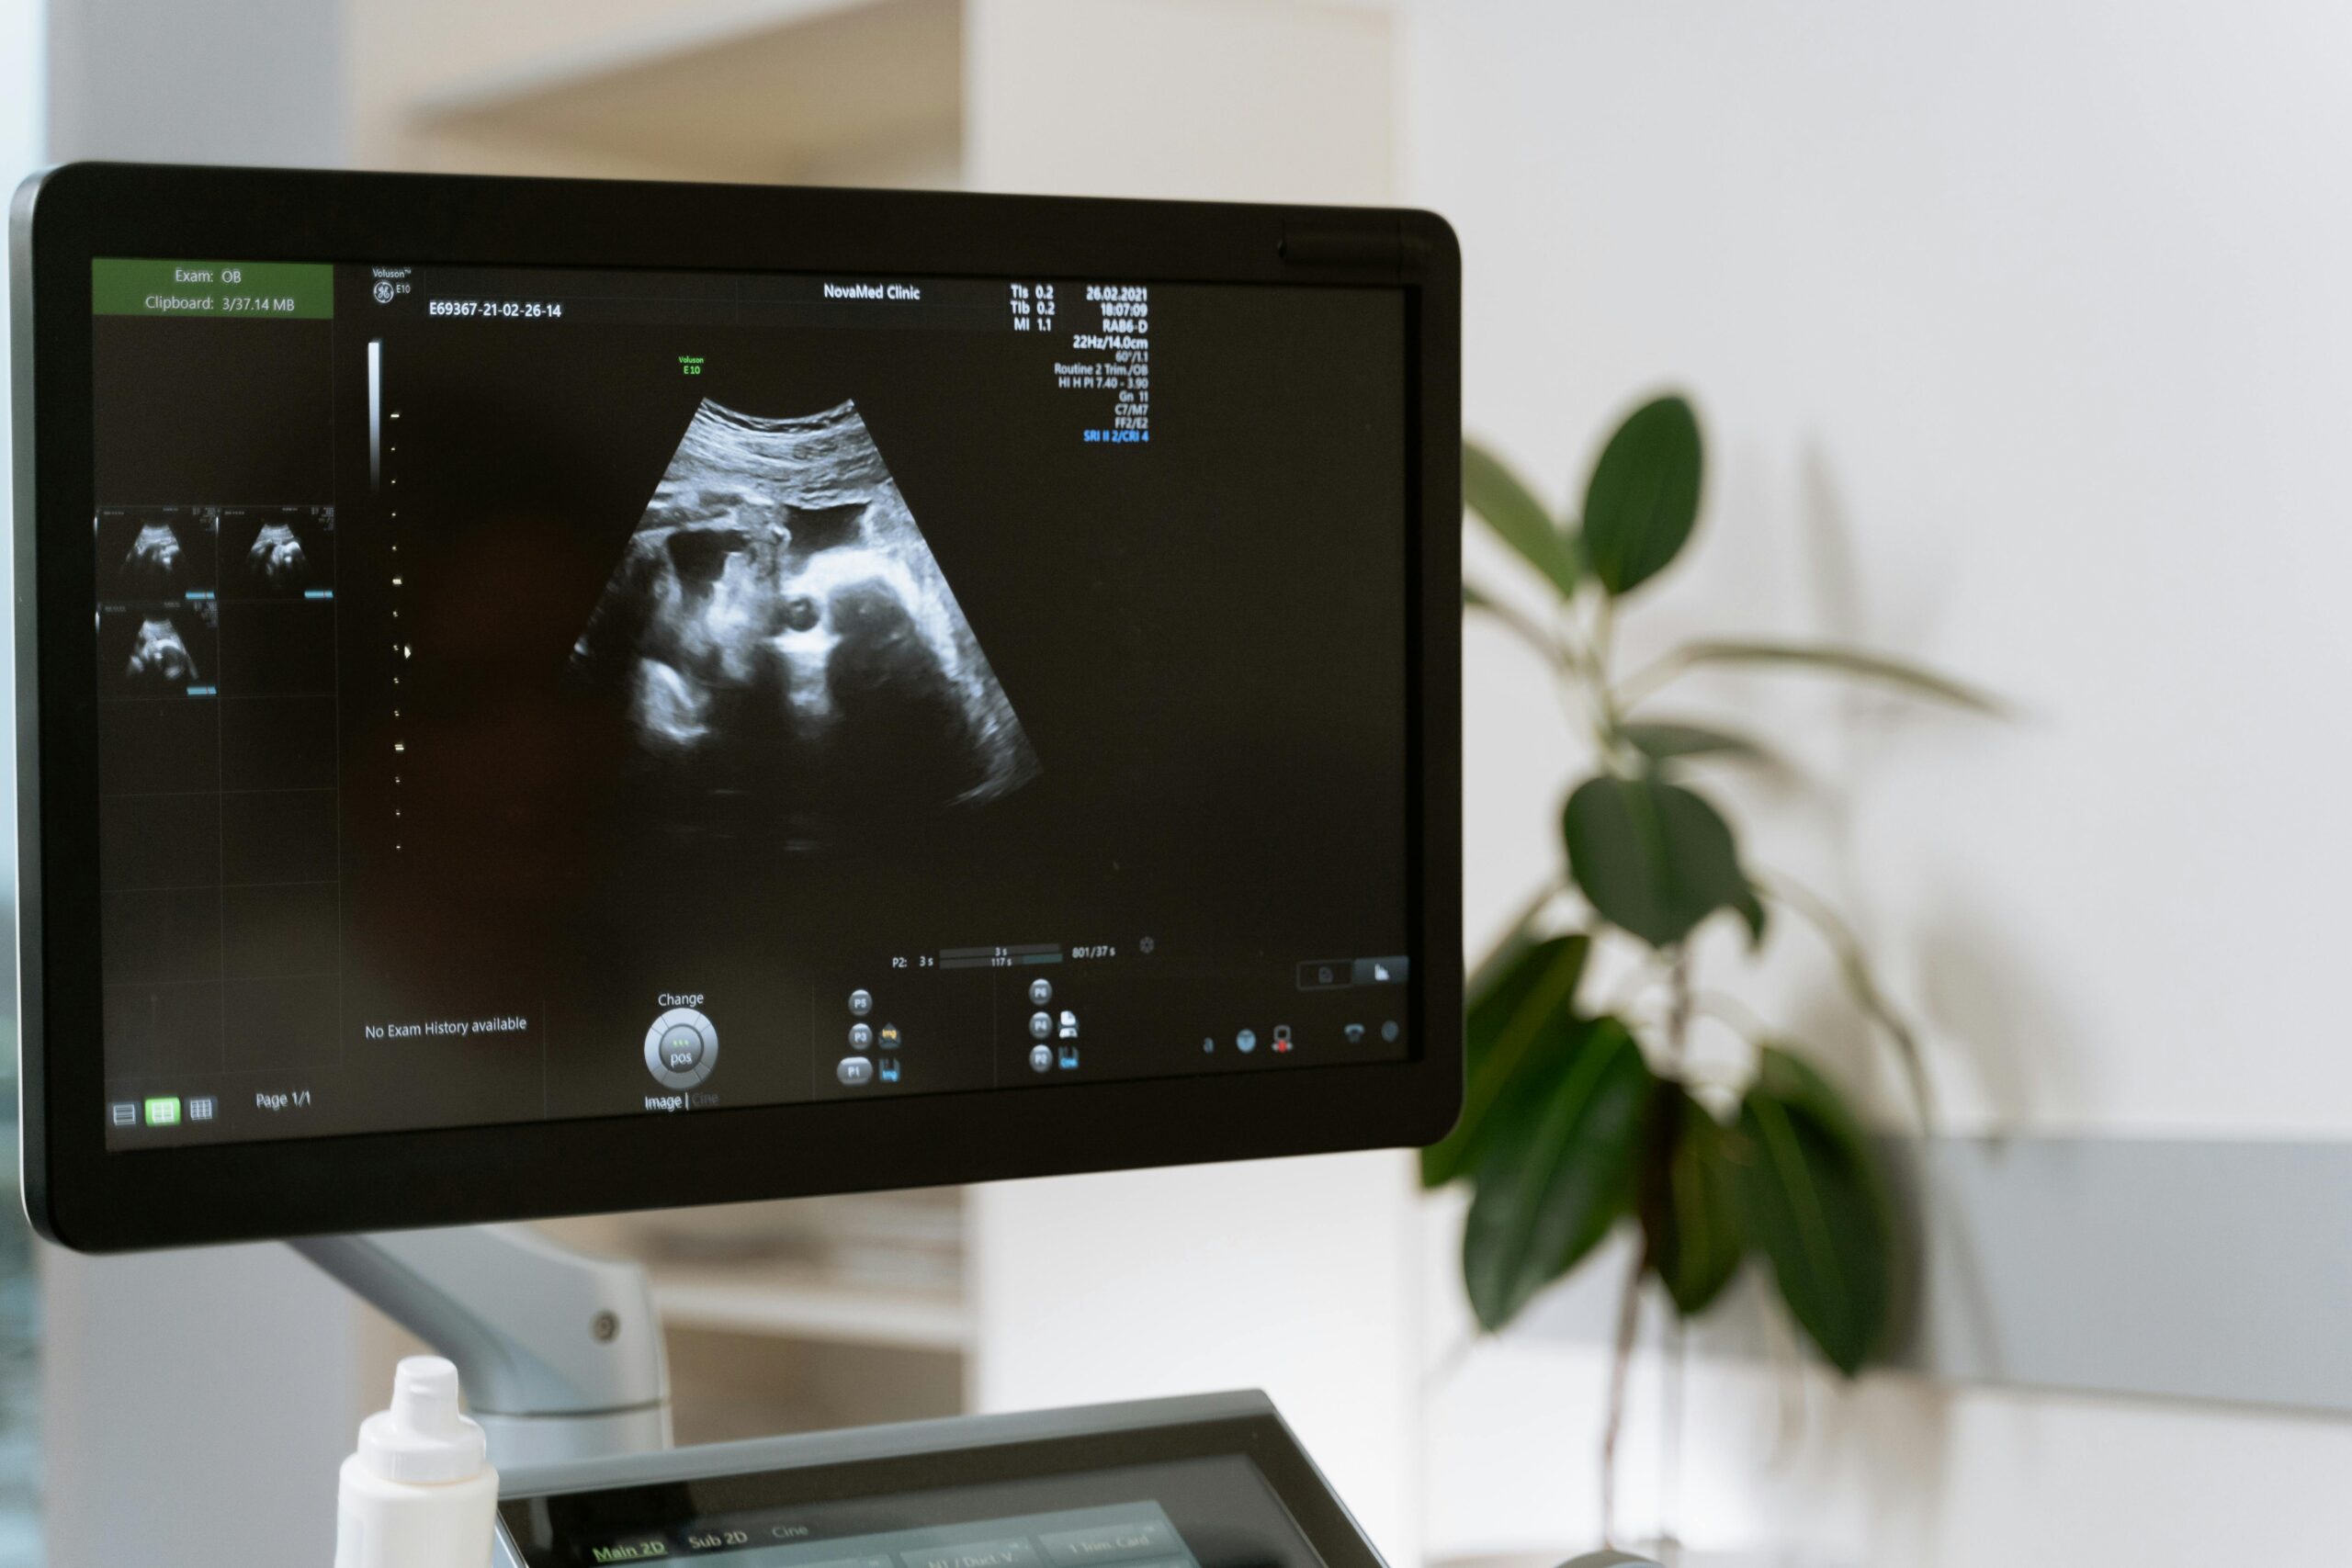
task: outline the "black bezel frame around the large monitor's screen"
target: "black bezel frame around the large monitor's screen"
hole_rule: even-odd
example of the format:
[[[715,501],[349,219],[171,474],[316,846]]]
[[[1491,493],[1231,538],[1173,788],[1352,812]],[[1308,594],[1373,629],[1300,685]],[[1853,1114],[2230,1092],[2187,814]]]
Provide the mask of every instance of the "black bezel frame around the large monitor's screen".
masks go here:
[[[691,235],[691,240],[680,240]],[[12,212],[19,1093],[42,1237],[132,1251],[1430,1143],[1461,1107],[1461,252],[1402,209],[64,165]],[[1404,1063],[108,1152],[94,964],[96,256],[1402,287],[1414,943]],[[66,562],[40,571],[42,559]],[[31,614],[26,614],[31,609]],[[1007,1138],[1007,1128],[1023,1135]],[[887,1133],[880,1135],[877,1133]],[[891,1150],[889,1171],[847,1150]]]

